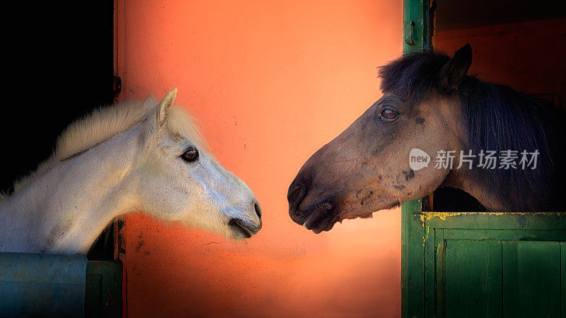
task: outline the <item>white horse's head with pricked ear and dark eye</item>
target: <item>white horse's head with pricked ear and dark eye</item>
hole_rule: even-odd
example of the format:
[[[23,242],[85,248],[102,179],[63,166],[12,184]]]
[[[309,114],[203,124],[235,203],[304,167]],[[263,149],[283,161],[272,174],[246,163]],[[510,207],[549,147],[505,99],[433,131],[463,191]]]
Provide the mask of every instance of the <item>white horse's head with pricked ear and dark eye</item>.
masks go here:
[[[140,123],[144,151],[133,168],[136,201],[151,216],[178,220],[234,240],[256,234],[261,208],[248,186],[208,155],[192,119],[171,107],[177,90],[161,102],[147,98]]]

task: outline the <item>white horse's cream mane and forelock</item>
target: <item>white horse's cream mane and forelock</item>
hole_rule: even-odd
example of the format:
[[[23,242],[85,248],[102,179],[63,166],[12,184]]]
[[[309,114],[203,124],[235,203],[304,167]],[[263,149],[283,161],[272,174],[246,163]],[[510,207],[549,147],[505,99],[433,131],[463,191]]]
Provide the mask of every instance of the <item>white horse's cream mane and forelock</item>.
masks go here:
[[[146,100],[127,101],[119,104],[100,107],[86,117],[73,122],[65,129],[59,138],[55,150],[47,160],[41,163],[35,172],[27,177],[18,179],[13,184],[13,193],[28,185],[42,172],[45,172],[59,161],[79,155],[88,149],[98,146],[122,134],[145,118],[151,118],[155,111],[154,98],[151,95]],[[166,122],[166,128],[172,134],[189,139],[197,147],[204,147],[206,143],[200,134],[195,119],[180,107],[171,107]],[[8,199],[9,195],[0,194],[0,201]]]

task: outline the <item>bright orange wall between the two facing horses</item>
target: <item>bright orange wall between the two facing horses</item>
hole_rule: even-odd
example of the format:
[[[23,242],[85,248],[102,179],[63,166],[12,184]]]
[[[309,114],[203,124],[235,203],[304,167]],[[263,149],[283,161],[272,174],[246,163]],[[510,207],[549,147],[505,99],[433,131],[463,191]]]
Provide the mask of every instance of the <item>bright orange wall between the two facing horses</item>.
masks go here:
[[[287,187],[379,98],[401,54],[402,1],[117,0],[120,100],[179,89],[264,226],[246,242],[126,218],[127,316],[400,316],[400,211],[314,235]]]

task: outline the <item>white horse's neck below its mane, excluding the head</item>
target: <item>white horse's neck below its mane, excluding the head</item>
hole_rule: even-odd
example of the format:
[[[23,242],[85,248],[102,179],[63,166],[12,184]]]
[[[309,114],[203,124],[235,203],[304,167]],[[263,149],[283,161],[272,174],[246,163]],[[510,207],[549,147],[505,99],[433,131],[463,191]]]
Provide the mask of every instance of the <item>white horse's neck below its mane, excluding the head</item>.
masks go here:
[[[137,208],[128,179],[139,149],[135,126],[1,202],[0,251],[86,254],[112,218]]]

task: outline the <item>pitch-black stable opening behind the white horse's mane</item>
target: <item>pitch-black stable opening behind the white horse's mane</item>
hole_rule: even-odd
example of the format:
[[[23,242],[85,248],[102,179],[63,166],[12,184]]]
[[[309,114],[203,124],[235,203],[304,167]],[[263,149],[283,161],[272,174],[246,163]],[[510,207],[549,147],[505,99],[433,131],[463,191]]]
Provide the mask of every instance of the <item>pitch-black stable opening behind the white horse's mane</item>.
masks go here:
[[[113,102],[114,3],[11,1],[3,11],[0,190],[9,193],[49,157],[65,126]]]

